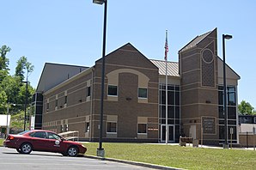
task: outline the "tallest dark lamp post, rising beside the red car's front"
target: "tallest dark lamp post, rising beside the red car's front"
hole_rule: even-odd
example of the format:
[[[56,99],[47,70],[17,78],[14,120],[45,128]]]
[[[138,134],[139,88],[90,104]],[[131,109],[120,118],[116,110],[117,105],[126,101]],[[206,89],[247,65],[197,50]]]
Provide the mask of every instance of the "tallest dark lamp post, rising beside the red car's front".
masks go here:
[[[106,52],[106,32],[107,32],[107,0],[93,0],[93,3],[105,4],[104,8],[104,24],[103,24],[103,46],[102,46],[102,69],[101,69],[101,121],[100,121],[100,137],[97,156],[104,157],[105,150],[102,148],[103,133],[103,101],[104,101],[104,82],[105,82],[105,52]]]

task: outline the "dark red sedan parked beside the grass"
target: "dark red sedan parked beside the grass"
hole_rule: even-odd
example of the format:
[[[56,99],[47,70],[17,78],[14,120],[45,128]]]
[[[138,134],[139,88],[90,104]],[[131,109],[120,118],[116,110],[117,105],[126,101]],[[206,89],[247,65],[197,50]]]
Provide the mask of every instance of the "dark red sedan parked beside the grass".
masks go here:
[[[16,149],[21,154],[30,154],[34,150],[76,156],[84,154],[87,150],[81,143],[67,141],[52,131],[43,130],[23,131],[17,135],[9,134],[3,146]]]

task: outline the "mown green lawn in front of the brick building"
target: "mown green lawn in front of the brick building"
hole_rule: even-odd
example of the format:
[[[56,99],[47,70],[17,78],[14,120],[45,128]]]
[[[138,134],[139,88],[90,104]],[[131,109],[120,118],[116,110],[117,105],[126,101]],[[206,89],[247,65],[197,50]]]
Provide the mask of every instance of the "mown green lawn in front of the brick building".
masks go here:
[[[186,169],[255,169],[256,151],[241,149],[202,149],[162,144],[103,143],[105,155]],[[98,143],[85,143],[86,155],[96,155]]]

